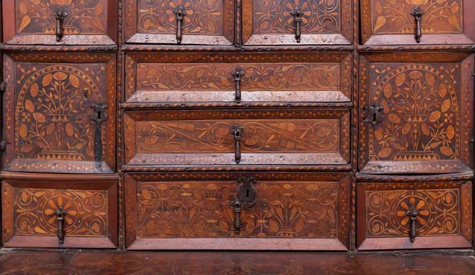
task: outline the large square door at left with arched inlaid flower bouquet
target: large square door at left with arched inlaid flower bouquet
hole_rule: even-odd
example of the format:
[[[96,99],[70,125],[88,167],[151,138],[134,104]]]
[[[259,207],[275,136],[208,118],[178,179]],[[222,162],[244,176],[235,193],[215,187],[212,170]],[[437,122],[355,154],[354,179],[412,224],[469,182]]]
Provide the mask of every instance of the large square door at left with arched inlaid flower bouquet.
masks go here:
[[[113,173],[114,54],[6,54],[3,170]],[[107,137],[106,137],[107,134]]]

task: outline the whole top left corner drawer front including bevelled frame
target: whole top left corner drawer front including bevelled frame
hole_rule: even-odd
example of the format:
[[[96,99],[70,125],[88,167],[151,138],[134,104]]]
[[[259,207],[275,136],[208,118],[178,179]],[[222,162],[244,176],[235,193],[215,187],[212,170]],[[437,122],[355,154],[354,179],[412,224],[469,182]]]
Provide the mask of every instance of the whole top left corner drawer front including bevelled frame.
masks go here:
[[[114,45],[117,40],[114,0],[10,0],[3,1],[3,15],[7,44]]]

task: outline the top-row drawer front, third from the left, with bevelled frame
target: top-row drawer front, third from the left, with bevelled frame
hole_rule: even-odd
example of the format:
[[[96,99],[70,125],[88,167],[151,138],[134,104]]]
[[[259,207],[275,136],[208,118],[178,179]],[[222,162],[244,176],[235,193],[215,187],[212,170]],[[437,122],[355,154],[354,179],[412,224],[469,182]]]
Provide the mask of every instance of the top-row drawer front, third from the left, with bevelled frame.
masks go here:
[[[352,1],[242,1],[244,45],[342,45],[352,41]]]

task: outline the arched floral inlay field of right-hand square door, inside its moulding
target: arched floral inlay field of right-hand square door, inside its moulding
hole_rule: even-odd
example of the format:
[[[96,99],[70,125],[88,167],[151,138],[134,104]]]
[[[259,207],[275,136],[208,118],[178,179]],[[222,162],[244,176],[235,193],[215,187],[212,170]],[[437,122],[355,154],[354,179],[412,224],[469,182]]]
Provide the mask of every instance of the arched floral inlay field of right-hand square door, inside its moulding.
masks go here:
[[[447,72],[429,65],[382,66],[373,68],[372,86],[385,118],[371,131],[371,159],[458,159],[459,66]]]

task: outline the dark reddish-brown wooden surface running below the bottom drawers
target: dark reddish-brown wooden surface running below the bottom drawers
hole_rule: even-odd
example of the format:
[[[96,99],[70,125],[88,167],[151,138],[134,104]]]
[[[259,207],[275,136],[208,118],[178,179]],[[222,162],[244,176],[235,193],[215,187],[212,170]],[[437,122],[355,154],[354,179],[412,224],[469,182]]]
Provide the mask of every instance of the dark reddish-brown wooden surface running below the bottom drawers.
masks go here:
[[[475,274],[472,256],[317,252],[0,251],[0,274]]]

